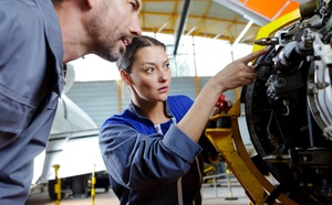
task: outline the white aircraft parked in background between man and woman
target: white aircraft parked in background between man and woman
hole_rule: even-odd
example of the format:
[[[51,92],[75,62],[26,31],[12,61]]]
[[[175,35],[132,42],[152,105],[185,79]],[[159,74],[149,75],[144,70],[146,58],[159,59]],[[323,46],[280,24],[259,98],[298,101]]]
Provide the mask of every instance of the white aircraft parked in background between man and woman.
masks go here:
[[[49,195],[54,193],[55,164],[60,165],[58,177],[62,179],[62,188],[72,195],[89,194],[89,180],[92,172],[101,176],[98,186],[108,190],[108,176],[98,148],[98,129],[91,117],[74,104],[65,93],[74,83],[73,66],[68,64],[66,85],[59,99],[55,119],[51,129],[46,149],[35,158],[32,180],[33,190],[48,184]],[[103,174],[104,173],[104,174]],[[63,193],[64,196],[64,193]]]

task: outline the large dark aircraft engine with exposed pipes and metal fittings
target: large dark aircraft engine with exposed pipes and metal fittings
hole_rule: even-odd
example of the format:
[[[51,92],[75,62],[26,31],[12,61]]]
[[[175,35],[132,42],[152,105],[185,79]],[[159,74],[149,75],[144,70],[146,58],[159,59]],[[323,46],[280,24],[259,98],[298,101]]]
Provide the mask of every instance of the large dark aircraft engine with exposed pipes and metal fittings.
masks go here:
[[[332,204],[332,1],[308,1],[301,18],[257,40],[269,53],[243,87],[248,131],[257,153],[299,204]]]

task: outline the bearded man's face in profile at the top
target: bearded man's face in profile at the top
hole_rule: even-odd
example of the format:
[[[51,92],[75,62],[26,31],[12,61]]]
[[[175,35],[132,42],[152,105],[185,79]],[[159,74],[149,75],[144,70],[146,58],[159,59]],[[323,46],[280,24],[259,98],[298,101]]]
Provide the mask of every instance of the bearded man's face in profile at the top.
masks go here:
[[[115,62],[134,35],[142,35],[138,22],[141,0],[100,0],[89,22],[93,53]]]

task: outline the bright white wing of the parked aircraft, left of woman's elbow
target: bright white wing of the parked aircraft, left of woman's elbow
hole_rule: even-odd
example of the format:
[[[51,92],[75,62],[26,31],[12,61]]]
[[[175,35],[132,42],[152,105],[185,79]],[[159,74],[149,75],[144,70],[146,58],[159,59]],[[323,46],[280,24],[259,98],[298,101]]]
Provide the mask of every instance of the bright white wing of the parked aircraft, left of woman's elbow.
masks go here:
[[[60,165],[60,179],[106,170],[98,148],[98,130],[52,134],[37,184],[55,179],[54,164]]]

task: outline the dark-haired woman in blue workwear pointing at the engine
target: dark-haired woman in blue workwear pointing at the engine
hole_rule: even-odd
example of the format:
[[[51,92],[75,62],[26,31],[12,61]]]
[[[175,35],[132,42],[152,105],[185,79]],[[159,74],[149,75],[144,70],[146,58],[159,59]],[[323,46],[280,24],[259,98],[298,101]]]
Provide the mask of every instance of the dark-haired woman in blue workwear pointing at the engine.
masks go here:
[[[111,186],[121,204],[201,204],[199,138],[218,97],[250,84],[256,74],[247,63],[263,53],[229,64],[193,102],[183,95],[168,96],[170,69],[165,45],[149,36],[133,40],[117,61],[132,102],[108,118],[100,132]]]

